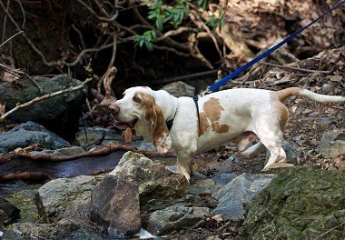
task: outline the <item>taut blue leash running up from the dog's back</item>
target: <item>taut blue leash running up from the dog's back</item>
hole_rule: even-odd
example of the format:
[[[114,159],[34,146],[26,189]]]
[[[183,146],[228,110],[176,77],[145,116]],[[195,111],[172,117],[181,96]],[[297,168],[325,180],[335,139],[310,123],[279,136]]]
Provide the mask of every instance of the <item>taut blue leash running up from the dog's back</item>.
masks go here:
[[[228,81],[232,80],[232,78],[240,75],[242,72],[247,70],[249,67],[251,67],[251,65],[256,64],[262,58],[264,58],[264,57],[266,57],[268,55],[271,55],[271,53],[274,52],[275,50],[277,50],[278,48],[280,48],[281,45],[285,45],[287,42],[289,42],[292,37],[301,34],[301,32],[303,32],[305,29],[307,29],[308,27],[310,27],[311,25],[313,25],[317,21],[319,21],[320,18],[324,17],[325,15],[330,14],[330,12],[332,12],[335,9],[337,9],[338,7],[340,7],[343,4],[345,4],[345,0],[342,0],[338,5],[335,5],[334,7],[330,8],[327,12],[325,12],[323,15],[320,15],[318,18],[316,18],[315,20],[311,21],[310,24],[305,25],[300,30],[294,32],[292,35],[289,35],[288,37],[283,39],[279,44],[273,45],[270,49],[268,49],[267,51],[263,52],[261,55],[258,55],[257,57],[252,59],[250,62],[246,63],[245,65],[242,65],[240,68],[238,68],[235,71],[233,71],[230,75],[226,75],[221,80],[215,82],[213,85],[209,85],[207,87],[206,92],[207,93],[212,93],[214,90],[218,89],[220,86],[222,86],[222,85],[226,84]]]

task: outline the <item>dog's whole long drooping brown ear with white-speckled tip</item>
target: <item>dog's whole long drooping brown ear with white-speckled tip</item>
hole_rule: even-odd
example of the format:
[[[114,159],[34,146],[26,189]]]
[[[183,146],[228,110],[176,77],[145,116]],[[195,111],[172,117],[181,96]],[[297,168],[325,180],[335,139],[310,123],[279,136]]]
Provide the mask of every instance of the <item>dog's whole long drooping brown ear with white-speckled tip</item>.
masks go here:
[[[152,95],[142,94],[142,98],[146,108],[145,118],[152,123],[153,145],[160,154],[165,154],[172,146],[172,139],[165,124],[163,111],[159,105],[155,104]]]

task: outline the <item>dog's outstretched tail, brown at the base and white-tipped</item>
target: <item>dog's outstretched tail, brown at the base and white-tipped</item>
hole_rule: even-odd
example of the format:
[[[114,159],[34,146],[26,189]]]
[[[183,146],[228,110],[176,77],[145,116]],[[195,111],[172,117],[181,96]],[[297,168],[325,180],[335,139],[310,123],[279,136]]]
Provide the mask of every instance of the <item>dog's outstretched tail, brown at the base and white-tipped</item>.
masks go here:
[[[279,90],[276,93],[281,102],[284,102],[284,100],[291,95],[307,97],[311,100],[321,103],[340,103],[345,101],[344,96],[315,94],[309,90],[301,89],[301,87],[289,87],[283,90]]]

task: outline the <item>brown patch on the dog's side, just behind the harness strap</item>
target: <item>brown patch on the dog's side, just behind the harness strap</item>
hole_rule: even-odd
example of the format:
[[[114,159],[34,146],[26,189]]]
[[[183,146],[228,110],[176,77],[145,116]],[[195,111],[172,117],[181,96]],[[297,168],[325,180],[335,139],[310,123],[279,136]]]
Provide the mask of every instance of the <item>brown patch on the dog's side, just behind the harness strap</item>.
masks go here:
[[[203,135],[209,127],[208,120],[211,121],[212,131],[218,134],[225,134],[229,132],[229,125],[221,125],[219,119],[221,118],[222,105],[219,100],[212,97],[202,105],[203,113],[200,114],[201,130],[200,135]]]

